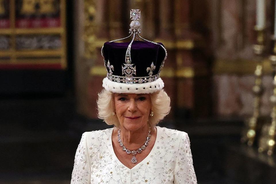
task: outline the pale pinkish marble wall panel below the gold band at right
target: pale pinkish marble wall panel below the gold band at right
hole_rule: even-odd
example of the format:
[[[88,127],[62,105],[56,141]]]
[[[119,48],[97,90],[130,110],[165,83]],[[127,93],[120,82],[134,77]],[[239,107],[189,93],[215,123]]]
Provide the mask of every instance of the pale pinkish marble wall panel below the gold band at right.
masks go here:
[[[252,87],[255,76],[215,75],[213,77],[214,112],[218,116],[250,116],[253,113]],[[262,77],[264,93],[261,98],[260,113],[269,115],[269,98],[273,93],[273,77]]]

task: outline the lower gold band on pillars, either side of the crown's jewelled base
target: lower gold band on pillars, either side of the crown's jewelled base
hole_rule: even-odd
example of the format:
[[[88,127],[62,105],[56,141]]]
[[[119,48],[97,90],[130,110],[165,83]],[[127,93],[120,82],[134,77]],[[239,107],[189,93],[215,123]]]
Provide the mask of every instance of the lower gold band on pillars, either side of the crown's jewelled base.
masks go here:
[[[104,66],[93,66],[90,68],[90,75],[91,76],[106,76],[106,68]],[[160,73],[161,77],[168,77],[168,78],[194,78],[198,76],[206,76],[208,71],[205,69],[200,68],[192,68],[192,67],[181,67],[177,70],[174,68],[166,68],[164,67]]]

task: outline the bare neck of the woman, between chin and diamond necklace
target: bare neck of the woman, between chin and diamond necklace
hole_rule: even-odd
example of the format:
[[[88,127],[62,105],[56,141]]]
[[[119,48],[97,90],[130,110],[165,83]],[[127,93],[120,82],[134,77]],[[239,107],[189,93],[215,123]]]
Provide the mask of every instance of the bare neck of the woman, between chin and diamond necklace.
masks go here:
[[[151,128],[152,129],[152,128]],[[136,131],[129,131],[121,127],[121,140],[125,147],[135,150],[143,145],[147,138],[149,127],[145,125]],[[152,130],[153,131],[153,130]]]

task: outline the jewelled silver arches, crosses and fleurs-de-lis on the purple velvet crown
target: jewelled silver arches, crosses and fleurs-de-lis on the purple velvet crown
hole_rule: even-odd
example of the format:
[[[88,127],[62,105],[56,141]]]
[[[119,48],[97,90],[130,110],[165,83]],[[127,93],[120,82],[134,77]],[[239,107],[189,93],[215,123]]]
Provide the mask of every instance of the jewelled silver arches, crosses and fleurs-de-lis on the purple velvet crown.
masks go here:
[[[124,40],[124,39],[127,39],[129,37],[131,37],[133,35],[133,38],[131,40],[131,42],[129,43],[129,46],[127,47],[127,52],[126,52],[126,56],[125,56],[125,62],[126,64],[123,64],[122,65],[122,75],[125,75],[126,76],[126,80],[125,80],[125,83],[128,83],[128,84],[132,84],[132,83],[135,83],[135,76],[136,75],[136,66],[133,66],[134,64],[131,64],[131,45],[134,41],[134,39],[136,38],[137,40],[139,40],[136,35],[143,39],[144,41],[147,41],[147,42],[150,42],[150,43],[154,43],[154,44],[157,44],[157,45],[160,45],[164,51],[165,51],[165,57],[164,57],[164,60],[162,61],[162,64],[158,70],[158,75],[159,73],[161,72],[162,68],[164,67],[164,62],[165,60],[167,59],[167,50],[165,49],[165,47],[159,43],[155,43],[153,41],[149,41],[147,39],[144,39],[142,38],[139,34],[141,34],[141,30],[140,30],[140,22],[138,20],[140,20],[141,18],[141,11],[139,9],[131,9],[130,10],[130,19],[132,20],[131,23],[130,23],[130,29],[129,29],[129,33],[131,33],[128,37],[125,37],[125,38],[122,38],[122,39],[117,39],[117,40],[113,40],[113,41],[109,41],[109,42],[115,42],[115,41],[120,41],[120,40]],[[103,48],[104,46],[101,48],[101,55],[104,57],[103,55]],[[109,62],[109,61],[108,61]],[[105,64],[105,60],[104,60],[104,64]],[[106,64],[105,64],[106,65]],[[152,63],[153,65],[153,63]],[[152,76],[152,71],[155,69],[155,66],[152,66],[151,65],[151,68],[147,68],[147,72],[150,71],[150,76]],[[109,65],[109,70],[110,68],[112,68],[113,66]],[[114,68],[112,68],[114,70]],[[109,73],[109,75],[112,75],[112,71],[107,71]]]

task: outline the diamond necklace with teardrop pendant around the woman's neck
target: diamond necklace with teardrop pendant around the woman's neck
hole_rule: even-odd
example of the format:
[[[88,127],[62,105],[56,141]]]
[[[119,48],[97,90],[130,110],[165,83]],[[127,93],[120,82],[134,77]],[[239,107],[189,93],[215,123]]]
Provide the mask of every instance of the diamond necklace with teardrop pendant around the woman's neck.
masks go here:
[[[132,150],[132,151],[129,150],[129,149],[127,149],[127,148],[124,146],[124,144],[122,143],[122,140],[121,140],[121,133],[120,133],[120,132],[121,132],[121,129],[118,130],[118,142],[119,142],[119,145],[120,145],[120,147],[122,147],[122,150],[125,151],[128,155],[129,155],[129,154],[132,154],[132,155],[133,155],[133,157],[131,158],[131,162],[132,162],[133,164],[136,164],[137,158],[135,157],[135,155],[137,154],[137,152],[138,152],[138,153],[142,153],[142,151],[146,149],[146,146],[149,145],[150,136],[151,136],[151,134],[150,134],[151,130],[150,130],[150,128],[149,128],[149,131],[148,131],[148,133],[147,133],[147,139],[146,139],[145,143],[144,143],[140,148],[138,148],[137,150]]]

